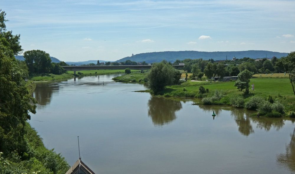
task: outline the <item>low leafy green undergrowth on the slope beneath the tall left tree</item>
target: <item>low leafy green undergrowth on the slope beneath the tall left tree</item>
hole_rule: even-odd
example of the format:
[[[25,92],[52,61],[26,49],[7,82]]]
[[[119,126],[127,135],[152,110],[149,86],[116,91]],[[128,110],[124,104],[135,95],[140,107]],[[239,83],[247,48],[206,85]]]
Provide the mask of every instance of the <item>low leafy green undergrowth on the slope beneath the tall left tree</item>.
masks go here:
[[[5,157],[0,152],[0,173],[64,174],[68,171],[70,166],[64,157],[48,150],[29,123],[26,123],[25,131],[26,152],[22,155],[14,152]]]

